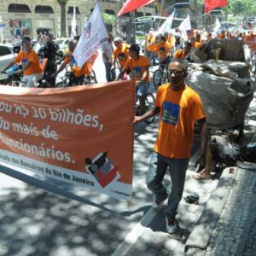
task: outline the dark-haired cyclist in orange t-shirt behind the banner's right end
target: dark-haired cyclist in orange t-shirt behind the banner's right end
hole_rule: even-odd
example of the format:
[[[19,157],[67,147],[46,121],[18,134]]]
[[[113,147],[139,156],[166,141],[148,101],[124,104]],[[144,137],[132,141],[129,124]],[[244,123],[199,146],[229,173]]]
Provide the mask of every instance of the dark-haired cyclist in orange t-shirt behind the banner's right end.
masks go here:
[[[131,44],[129,49],[130,59],[125,63],[125,67],[119,73],[116,80],[119,80],[124,73],[131,73],[132,79],[137,85],[137,97],[140,101],[140,113],[145,113],[145,96],[150,85],[149,67],[150,61],[148,57],[140,55],[140,47],[137,44]]]

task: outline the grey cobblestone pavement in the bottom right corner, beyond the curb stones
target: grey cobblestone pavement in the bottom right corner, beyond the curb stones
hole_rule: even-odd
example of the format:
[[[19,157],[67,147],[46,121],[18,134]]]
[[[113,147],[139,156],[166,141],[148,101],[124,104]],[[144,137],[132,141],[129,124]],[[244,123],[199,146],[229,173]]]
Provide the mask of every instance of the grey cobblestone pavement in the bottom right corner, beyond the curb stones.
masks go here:
[[[256,172],[239,169],[206,256],[256,255]]]

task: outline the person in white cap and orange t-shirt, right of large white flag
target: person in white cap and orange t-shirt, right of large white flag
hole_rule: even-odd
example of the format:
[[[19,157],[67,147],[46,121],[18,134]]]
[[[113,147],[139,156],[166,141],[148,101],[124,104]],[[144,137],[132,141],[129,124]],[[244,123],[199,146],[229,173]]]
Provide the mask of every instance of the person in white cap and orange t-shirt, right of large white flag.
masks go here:
[[[129,44],[123,43],[122,38],[113,38],[115,49],[113,50],[113,67],[115,61],[119,61],[119,67],[125,67],[125,62],[129,59]]]

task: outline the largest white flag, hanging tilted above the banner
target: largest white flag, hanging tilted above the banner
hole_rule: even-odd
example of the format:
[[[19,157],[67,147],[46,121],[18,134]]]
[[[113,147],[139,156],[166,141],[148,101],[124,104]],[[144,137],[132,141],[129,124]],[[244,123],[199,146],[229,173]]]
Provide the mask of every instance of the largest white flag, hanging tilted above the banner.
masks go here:
[[[102,18],[99,3],[96,2],[95,8],[85,22],[79,42],[73,51],[73,56],[79,67],[82,67],[84,62],[95,54],[105,38],[108,38],[108,32]]]

